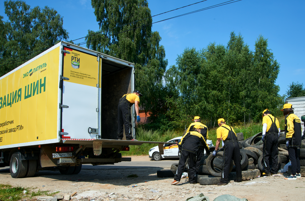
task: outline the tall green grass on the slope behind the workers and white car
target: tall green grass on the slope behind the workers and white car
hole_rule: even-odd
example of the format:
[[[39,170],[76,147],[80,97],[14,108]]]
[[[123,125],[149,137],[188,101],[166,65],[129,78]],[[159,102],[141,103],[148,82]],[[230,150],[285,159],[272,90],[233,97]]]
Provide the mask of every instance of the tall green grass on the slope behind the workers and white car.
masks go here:
[[[285,124],[285,118],[284,116],[277,117],[280,123],[281,130],[284,130],[284,124]],[[248,123],[246,125],[242,123],[237,123],[233,126],[234,131],[236,133],[243,133],[244,139],[247,139],[249,137],[252,137],[256,133],[262,132],[262,122],[260,123]],[[216,130],[218,127],[209,129],[209,140],[212,140],[214,146],[216,144]],[[176,130],[167,130],[165,132],[161,132],[160,130],[152,131],[152,130],[145,130],[142,127],[137,128],[137,140],[139,141],[157,141],[157,142],[166,142],[171,140],[174,137],[182,136],[184,130],[176,129]],[[157,146],[158,144],[142,144],[141,146],[129,146],[130,151],[129,152],[121,152],[123,156],[128,155],[148,155],[149,149],[153,148],[154,146]]]

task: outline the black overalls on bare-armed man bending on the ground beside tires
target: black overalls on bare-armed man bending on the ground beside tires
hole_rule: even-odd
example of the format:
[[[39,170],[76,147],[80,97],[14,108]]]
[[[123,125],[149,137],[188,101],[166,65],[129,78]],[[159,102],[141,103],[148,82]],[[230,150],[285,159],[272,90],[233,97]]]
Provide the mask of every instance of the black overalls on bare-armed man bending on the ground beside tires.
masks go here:
[[[229,130],[228,128],[222,126]],[[225,146],[223,151],[223,168],[222,168],[222,183],[228,183],[231,159],[233,158],[236,167],[236,180],[241,181],[241,152],[237,142],[236,134],[233,132],[232,127],[229,130],[228,137],[224,140]]]

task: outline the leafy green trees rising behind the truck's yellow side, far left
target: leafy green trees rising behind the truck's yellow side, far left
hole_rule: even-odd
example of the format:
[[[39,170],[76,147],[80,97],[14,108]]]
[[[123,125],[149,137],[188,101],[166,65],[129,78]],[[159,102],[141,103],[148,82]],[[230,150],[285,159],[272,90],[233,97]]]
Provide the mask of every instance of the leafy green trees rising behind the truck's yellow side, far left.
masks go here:
[[[0,35],[0,76],[68,38],[63,19],[54,9],[30,9],[23,1],[5,1],[4,7],[9,20],[3,22],[0,18],[0,26],[4,27]]]

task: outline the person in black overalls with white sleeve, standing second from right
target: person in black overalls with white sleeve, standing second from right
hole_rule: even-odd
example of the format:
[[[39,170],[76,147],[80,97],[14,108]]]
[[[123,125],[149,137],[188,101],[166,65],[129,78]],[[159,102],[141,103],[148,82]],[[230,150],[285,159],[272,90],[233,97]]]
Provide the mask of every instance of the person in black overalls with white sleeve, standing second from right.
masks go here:
[[[270,114],[268,109],[263,111],[263,175],[270,175],[270,157],[272,161],[271,174],[277,174],[278,167],[278,137],[280,136],[280,124],[274,116]]]

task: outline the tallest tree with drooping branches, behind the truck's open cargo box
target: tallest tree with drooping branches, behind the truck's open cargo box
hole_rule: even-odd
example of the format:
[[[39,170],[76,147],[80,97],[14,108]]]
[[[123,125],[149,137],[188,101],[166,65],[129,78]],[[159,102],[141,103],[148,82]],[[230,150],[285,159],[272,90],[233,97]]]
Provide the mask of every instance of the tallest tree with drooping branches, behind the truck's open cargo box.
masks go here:
[[[135,63],[135,87],[143,93],[141,107],[156,119],[166,111],[162,79],[167,60],[161,37],[152,32],[146,0],[92,0],[100,26],[88,31],[87,47]]]

